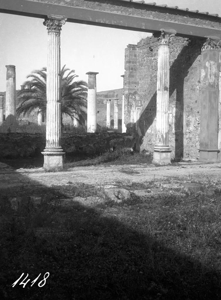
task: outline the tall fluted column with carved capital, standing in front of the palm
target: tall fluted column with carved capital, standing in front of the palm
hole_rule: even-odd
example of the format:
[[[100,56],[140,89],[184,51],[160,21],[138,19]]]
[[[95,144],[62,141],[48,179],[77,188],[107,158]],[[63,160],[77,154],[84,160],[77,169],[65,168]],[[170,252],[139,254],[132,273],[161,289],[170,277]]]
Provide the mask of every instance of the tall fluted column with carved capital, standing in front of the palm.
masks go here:
[[[44,168],[55,171],[63,169],[64,152],[60,145],[60,31],[65,21],[63,16],[48,16],[43,23],[48,30],[48,59],[46,147],[41,153],[44,155]]]

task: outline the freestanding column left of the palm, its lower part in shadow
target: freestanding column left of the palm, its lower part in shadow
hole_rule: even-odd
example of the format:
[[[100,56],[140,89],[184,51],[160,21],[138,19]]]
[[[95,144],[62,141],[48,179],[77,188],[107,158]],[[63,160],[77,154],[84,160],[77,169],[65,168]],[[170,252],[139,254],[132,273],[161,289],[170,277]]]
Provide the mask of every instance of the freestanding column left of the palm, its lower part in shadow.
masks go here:
[[[8,131],[16,132],[16,80],[15,66],[5,66],[6,95],[5,95],[5,125]]]

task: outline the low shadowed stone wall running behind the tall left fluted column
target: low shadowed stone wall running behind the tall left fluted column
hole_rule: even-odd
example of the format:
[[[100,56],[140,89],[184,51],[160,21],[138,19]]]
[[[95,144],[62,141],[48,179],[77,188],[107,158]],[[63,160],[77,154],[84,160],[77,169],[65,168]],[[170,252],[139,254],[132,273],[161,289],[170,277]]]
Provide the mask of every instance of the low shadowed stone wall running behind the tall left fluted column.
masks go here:
[[[0,158],[37,157],[45,149],[45,135],[0,133]],[[62,134],[66,155],[99,155],[113,147],[133,147],[134,137],[116,132]]]

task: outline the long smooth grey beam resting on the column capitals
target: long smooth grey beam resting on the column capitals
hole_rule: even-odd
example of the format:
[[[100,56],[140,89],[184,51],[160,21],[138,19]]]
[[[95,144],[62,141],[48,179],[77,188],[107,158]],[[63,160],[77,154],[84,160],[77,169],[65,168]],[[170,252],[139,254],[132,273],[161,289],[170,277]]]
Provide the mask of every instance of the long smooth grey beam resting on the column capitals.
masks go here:
[[[63,15],[67,18],[67,22],[150,33],[159,32],[161,28],[173,29],[177,32],[177,36],[201,38],[213,36],[221,39],[221,30],[219,29],[38,1],[0,0],[0,12],[37,18],[45,18],[47,15]]]

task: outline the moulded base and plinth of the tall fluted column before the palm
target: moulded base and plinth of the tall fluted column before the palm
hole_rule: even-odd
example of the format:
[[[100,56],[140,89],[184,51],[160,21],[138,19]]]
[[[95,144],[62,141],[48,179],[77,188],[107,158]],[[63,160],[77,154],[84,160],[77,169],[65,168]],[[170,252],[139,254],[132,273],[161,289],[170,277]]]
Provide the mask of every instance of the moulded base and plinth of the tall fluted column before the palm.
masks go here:
[[[65,152],[63,152],[62,149],[51,149],[50,151],[47,151],[49,149],[45,149],[45,150],[44,152],[41,152],[41,154],[44,155],[43,168],[46,171],[54,171],[54,172],[63,170],[63,155],[65,154]]]

